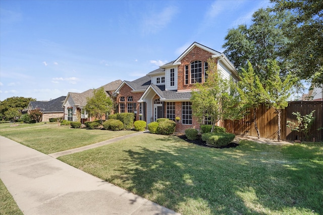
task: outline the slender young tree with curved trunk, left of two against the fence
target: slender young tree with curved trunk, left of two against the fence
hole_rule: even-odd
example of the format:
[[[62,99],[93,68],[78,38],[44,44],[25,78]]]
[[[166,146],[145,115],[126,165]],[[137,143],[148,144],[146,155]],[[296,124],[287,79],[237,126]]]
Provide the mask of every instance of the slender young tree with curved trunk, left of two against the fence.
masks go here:
[[[260,138],[260,132],[257,126],[256,110],[266,99],[266,92],[260,83],[258,76],[254,73],[253,67],[248,61],[248,68],[242,68],[241,81],[238,83],[238,92],[241,98],[240,106],[242,109],[253,109],[253,123]]]

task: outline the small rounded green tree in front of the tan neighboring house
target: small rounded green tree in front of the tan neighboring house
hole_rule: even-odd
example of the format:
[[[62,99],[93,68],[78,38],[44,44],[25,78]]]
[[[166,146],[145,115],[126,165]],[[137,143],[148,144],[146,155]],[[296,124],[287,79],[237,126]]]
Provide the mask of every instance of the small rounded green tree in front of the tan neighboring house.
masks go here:
[[[87,104],[85,106],[86,112],[91,116],[95,116],[100,120],[102,124],[102,118],[107,113],[110,113],[113,109],[113,101],[107,96],[103,87],[94,89],[94,95],[91,98],[87,98]]]

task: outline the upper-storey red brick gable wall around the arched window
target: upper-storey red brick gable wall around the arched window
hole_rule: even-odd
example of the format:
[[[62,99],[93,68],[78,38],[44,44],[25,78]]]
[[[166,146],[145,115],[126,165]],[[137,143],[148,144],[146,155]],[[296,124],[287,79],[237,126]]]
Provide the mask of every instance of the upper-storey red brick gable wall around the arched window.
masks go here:
[[[194,60],[202,61],[202,82],[204,81],[204,62],[212,56],[212,53],[205,51],[195,46],[189,53],[187,53],[181,60],[181,65],[178,66],[178,90],[188,90],[194,88],[194,85],[185,85],[185,65],[189,65]],[[190,66],[189,66],[190,69]],[[190,83],[190,77],[189,77]]]

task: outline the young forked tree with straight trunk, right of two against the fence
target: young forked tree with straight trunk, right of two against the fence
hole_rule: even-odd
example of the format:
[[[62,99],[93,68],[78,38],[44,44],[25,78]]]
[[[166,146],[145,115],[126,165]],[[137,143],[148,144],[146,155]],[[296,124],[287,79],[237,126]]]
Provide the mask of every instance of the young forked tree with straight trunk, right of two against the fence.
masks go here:
[[[288,75],[284,81],[280,78],[280,67],[276,60],[268,60],[268,80],[265,83],[267,93],[266,103],[273,107],[278,114],[278,138],[281,140],[281,114],[282,110],[288,106],[288,98],[295,83],[295,78]]]

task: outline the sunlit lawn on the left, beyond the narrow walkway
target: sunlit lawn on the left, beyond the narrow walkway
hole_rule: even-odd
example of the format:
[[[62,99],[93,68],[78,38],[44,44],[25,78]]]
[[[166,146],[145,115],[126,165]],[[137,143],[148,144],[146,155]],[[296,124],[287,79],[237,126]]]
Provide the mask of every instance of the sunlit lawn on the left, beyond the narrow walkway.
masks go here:
[[[57,123],[21,124],[21,126],[24,127],[20,125],[3,127],[0,129],[0,135],[45,154],[75,149],[136,132],[74,129],[70,126],[59,126]]]

